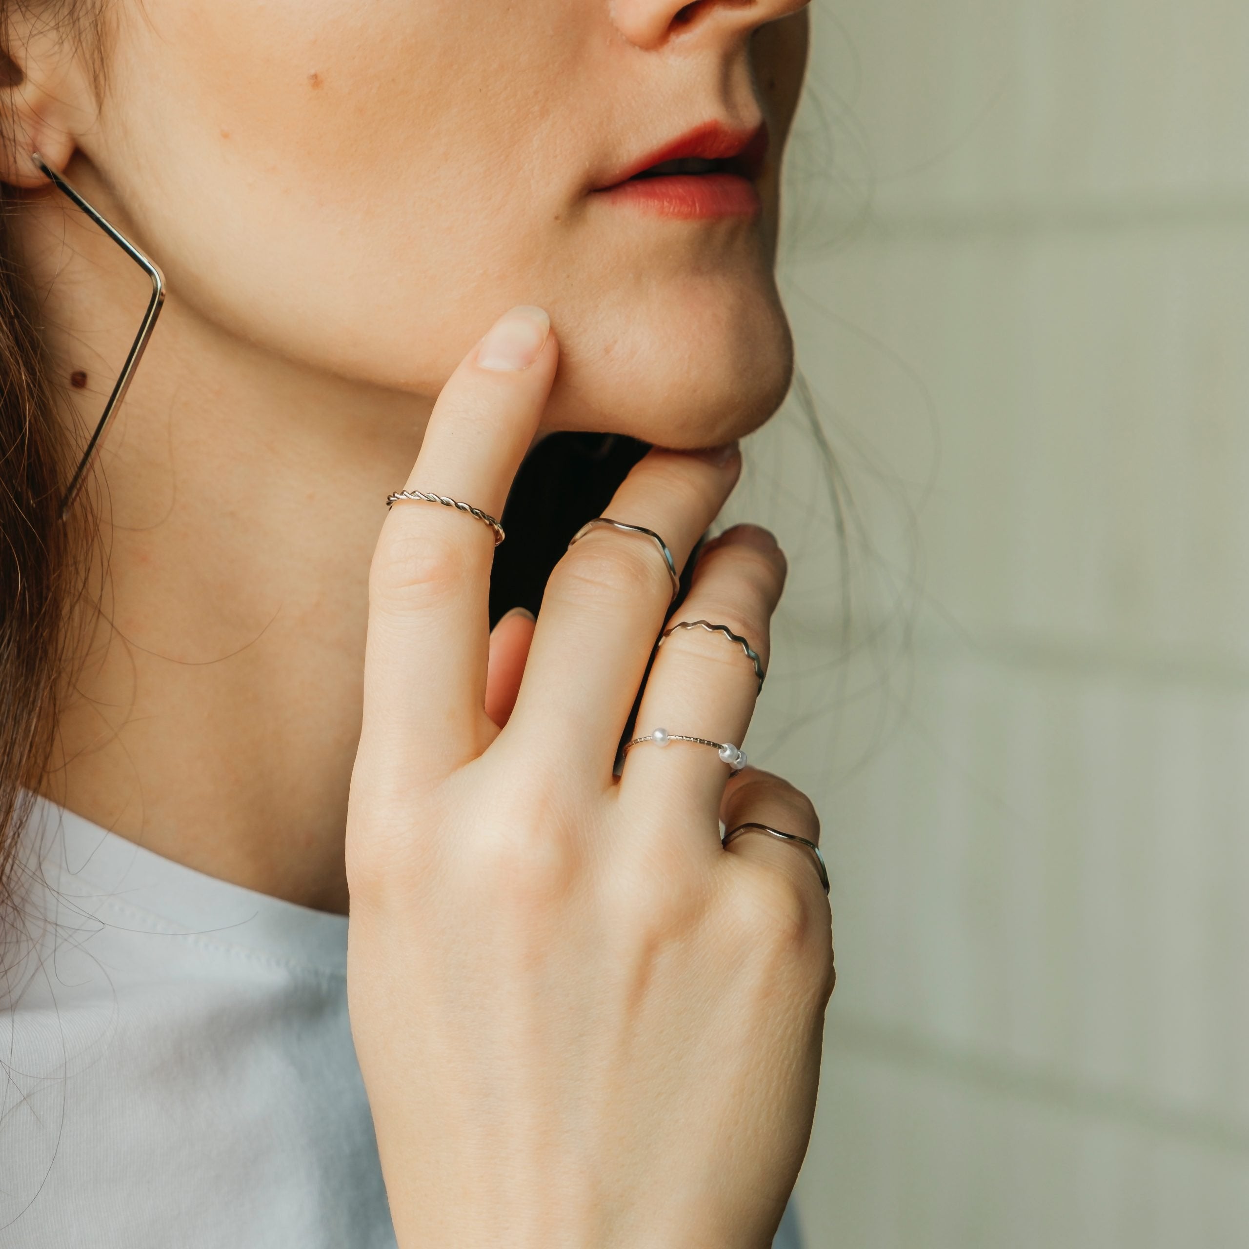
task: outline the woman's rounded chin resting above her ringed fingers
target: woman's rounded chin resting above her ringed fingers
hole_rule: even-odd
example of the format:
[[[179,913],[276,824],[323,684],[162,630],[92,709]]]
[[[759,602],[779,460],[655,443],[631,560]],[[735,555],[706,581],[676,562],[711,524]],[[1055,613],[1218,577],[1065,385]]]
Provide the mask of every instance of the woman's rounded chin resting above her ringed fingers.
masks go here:
[[[776,287],[555,318],[561,366],[543,426],[693,450],[757,430],[784,401],[793,340]]]

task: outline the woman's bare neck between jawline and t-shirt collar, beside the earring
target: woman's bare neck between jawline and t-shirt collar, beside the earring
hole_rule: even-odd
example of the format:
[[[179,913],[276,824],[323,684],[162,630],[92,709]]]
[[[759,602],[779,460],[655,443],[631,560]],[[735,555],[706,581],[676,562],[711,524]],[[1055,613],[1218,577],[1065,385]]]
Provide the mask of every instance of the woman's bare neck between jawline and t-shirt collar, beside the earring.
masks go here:
[[[74,447],[111,388],[144,279],[59,200],[31,205]],[[315,280],[315,276],[310,277]],[[426,398],[231,336],[176,290],[75,510],[94,555],[44,793],[156,853],[345,911],[368,562]]]

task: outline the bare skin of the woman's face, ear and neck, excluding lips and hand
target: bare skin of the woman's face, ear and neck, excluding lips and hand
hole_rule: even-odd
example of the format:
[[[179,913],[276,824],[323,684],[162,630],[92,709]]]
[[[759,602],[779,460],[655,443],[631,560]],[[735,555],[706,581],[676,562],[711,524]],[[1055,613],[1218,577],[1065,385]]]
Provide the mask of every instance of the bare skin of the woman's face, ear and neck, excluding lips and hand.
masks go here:
[[[152,849],[345,909],[365,581],[380,500],[502,309],[561,365],[541,428],[672,447],[764,421],[791,371],[777,166],[799,0],[136,0],[94,61],[16,27],[21,221],[66,408],[99,412],[142,280],[171,299],[92,485],[104,563],[47,792]],[[11,75],[10,75],[11,77]],[[766,120],[759,220],[587,196],[696,125]],[[41,190],[40,190],[41,189]],[[91,605],[94,600],[99,605]]]

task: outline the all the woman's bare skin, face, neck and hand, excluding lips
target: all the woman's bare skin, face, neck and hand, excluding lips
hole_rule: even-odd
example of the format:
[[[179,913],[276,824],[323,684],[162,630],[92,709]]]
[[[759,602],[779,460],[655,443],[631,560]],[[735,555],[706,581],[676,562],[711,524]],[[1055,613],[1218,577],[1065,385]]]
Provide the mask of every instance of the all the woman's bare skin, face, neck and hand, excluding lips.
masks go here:
[[[654,547],[596,530],[537,622],[491,638],[488,530],[381,506],[406,485],[498,515],[543,430],[620,430],[661,447],[608,515],[689,560],[731,440],[789,376],[771,267],[796,7],[122,4],[102,107],[76,45],[10,34],[6,176],[37,186],[32,150],[67,167],[175,291],[92,487],[49,792],[211,874],[350,903],[401,1249],[764,1249],[806,1150],[828,902],[804,854],[726,851],[719,823],[814,839],[811,803],[688,743],[613,774],[671,606]],[[757,220],[587,197],[696,125],[763,119]],[[87,417],[141,291],[57,199],[21,230]],[[732,530],[682,610],[766,661],[784,575],[769,535]],[[639,724],[741,742],[756,696],[738,648],[683,632]]]

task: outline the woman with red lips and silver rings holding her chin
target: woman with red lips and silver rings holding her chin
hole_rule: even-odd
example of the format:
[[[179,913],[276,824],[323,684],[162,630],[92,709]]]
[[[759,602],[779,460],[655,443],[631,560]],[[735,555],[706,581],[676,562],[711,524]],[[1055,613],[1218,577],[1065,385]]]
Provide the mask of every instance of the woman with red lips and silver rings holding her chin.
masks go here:
[[[734,746],[784,560],[696,548],[789,381],[801,2],[4,6],[4,1244],[771,1240],[829,913]],[[171,292],[64,521],[146,292],[62,176]],[[673,450],[491,636],[552,431]]]

